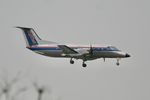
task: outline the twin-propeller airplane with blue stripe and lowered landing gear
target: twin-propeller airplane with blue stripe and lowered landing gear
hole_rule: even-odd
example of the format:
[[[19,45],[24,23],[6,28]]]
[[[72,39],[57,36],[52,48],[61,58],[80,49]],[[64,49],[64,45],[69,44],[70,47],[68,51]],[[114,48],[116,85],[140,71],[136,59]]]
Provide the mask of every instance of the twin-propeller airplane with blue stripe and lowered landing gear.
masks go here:
[[[33,28],[16,27],[23,31],[26,48],[49,57],[70,58],[70,64],[74,64],[73,59],[83,60],[82,66],[88,60],[95,60],[98,58],[116,58],[117,65],[121,58],[130,57],[128,53],[118,50],[114,46],[100,46],[100,45],[64,45],[52,41],[42,40]]]

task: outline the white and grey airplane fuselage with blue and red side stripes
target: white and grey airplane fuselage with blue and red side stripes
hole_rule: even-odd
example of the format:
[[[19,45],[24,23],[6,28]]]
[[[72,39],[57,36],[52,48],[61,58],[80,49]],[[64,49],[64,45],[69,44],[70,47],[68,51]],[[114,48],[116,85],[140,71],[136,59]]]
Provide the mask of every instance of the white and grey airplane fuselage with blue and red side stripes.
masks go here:
[[[32,46],[32,47],[27,47],[30,50],[42,54],[45,56],[50,56],[50,57],[73,57],[76,59],[82,59],[82,54],[88,54],[90,50],[90,46],[88,45],[67,45],[71,49],[77,51],[79,54],[64,54],[62,49],[59,48],[57,45],[49,45],[49,44],[44,44],[44,45],[37,45],[37,46]],[[97,59],[97,58],[125,58],[126,53],[112,47],[112,46],[99,46],[99,45],[93,45],[93,55],[92,58],[87,58],[88,60],[90,59]],[[88,56],[87,56],[88,57]]]

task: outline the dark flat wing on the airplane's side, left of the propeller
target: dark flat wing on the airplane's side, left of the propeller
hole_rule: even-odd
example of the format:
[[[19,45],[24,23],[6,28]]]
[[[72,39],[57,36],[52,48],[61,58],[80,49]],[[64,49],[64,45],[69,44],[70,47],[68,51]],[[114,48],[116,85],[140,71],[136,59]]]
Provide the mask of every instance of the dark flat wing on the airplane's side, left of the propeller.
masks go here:
[[[66,45],[58,45],[58,47],[61,48],[65,54],[78,54],[77,51],[75,51],[74,49],[72,49]]]

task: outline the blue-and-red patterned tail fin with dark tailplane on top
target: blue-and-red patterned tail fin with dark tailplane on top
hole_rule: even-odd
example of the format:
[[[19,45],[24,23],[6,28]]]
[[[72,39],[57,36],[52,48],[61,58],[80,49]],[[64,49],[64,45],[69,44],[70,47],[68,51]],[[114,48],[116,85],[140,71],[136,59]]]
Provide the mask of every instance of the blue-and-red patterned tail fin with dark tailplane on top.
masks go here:
[[[25,27],[16,27],[16,28],[20,28],[23,31],[27,47],[38,45],[39,42],[41,41],[41,38],[36,34],[34,29]]]

